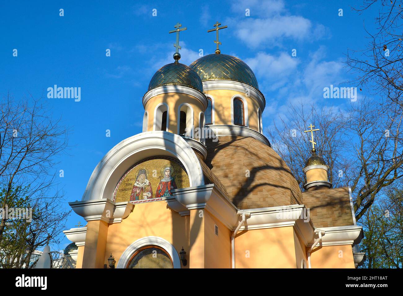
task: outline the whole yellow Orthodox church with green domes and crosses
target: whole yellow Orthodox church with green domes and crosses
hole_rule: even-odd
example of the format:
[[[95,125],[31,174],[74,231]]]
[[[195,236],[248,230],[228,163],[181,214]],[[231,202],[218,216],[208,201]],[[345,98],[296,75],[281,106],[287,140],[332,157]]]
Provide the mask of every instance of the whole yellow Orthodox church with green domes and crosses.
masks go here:
[[[216,51],[174,61],[143,96],[143,132],[100,160],[81,201],[87,221],[65,230],[76,268],[354,268],[357,226],[350,188],[307,159],[301,192],[263,135],[266,100],[253,71]]]

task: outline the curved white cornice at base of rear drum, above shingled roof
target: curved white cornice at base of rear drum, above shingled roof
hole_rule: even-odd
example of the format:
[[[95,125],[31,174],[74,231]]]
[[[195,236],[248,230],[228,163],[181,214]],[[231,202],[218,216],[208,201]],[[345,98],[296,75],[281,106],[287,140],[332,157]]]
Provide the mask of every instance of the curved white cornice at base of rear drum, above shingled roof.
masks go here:
[[[269,140],[264,135],[245,126],[227,124],[210,124],[206,126],[206,139],[224,136],[252,137],[271,147]]]

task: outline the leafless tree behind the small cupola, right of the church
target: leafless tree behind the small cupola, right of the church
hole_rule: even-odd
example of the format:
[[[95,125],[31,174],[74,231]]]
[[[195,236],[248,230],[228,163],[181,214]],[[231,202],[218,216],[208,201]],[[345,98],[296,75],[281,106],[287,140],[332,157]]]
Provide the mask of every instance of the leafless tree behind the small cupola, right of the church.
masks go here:
[[[302,170],[312,147],[303,130],[311,123],[320,128],[315,135],[317,154],[329,166],[334,187],[351,187],[358,220],[387,186],[403,180],[402,113],[395,107],[385,111],[366,98],[352,102],[348,110],[290,105],[286,118],[267,132],[303,189]]]

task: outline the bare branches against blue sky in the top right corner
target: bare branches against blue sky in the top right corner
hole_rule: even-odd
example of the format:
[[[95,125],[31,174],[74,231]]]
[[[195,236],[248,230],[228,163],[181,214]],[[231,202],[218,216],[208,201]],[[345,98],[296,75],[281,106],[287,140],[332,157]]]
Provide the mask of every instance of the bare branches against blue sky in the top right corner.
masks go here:
[[[347,65],[355,74],[352,82],[378,94],[383,102],[403,106],[403,1],[364,0],[358,13],[375,10],[376,30],[367,31],[364,49],[347,51]],[[365,24],[364,24],[365,25]]]

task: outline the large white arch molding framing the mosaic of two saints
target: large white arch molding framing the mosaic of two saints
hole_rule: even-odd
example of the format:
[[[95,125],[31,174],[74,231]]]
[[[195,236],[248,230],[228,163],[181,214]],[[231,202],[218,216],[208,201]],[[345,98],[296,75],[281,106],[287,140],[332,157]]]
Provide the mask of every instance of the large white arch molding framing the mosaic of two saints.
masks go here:
[[[159,155],[181,161],[190,187],[204,185],[202,166],[185,139],[171,132],[149,131],[121,141],[106,153],[93,170],[82,200],[112,199],[116,184],[129,168],[147,157]]]

